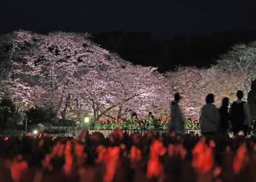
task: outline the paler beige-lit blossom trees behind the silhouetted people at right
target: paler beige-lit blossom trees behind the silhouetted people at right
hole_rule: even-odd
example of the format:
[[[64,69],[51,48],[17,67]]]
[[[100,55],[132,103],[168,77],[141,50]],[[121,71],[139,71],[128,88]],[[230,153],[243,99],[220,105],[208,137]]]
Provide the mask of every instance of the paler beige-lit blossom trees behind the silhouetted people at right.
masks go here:
[[[171,92],[180,92],[183,97],[180,104],[186,117],[199,117],[209,93],[216,96],[217,107],[224,97],[230,102],[236,100],[237,90],[242,90],[247,99],[251,82],[256,78],[256,41],[234,46],[209,69],[178,67],[166,76]]]

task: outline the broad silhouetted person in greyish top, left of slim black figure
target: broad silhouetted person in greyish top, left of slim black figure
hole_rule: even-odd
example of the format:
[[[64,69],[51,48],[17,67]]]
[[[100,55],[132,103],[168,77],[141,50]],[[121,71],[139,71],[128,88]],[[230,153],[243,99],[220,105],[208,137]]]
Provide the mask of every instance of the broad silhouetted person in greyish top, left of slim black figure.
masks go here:
[[[201,134],[203,135],[214,135],[219,132],[218,126],[220,122],[220,113],[218,109],[215,107],[214,103],[214,95],[208,94],[205,98],[207,104],[205,104],[201,108],[200,115],[200,127]]]

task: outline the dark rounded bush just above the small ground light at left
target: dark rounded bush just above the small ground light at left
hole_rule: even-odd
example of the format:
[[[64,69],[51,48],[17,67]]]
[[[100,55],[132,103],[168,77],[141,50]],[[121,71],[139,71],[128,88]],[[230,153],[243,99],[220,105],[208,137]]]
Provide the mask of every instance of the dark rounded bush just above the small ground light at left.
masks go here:
[[[28,122],[38,124],[40,122],[52,122],[56,114],[51,107],[40,107],[36,105],[26,111],[26,116]]]

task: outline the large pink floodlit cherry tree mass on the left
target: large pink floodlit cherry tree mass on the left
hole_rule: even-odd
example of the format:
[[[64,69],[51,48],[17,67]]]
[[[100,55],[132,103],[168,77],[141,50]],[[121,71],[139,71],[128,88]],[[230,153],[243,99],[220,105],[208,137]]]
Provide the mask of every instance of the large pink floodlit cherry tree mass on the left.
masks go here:
[[[164,77],[154,67],[123,61],[86,33],[18,31],[3,39],[10,44],[3,58],[10,62],[5,86],[27,107],[51,105],[63,118],[68,109],[93,112],[98,119],[113,108],[153,111],[167,98]]]

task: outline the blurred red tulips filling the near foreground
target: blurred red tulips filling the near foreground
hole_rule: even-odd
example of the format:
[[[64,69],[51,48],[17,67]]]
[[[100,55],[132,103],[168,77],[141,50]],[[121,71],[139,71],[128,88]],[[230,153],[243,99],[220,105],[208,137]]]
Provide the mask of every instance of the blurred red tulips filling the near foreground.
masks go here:
[[[256,181],[256,138],[130,136],[120,129],[78,137],[0,138],[0,181]]]

